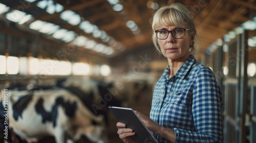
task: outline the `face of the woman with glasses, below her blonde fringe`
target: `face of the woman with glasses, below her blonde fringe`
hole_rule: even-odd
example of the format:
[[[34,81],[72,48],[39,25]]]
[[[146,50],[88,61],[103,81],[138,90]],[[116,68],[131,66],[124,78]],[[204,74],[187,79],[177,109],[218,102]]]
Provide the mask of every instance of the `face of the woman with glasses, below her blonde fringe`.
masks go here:
[[[161,26],[159,29],[165,29],[172,31],[178,27],[176,26]],[[183,27],[180,27],[183,28]],[[161,47],[161,51],[164,57],[174,60],[183,61],[189,57],[189,44],[193,42],[193,37],[188,31],[185,31],[185,36],[181,39],[176,39],[171,33],[168,34],[168,38],[164,40],[158,39],[158,43]]]

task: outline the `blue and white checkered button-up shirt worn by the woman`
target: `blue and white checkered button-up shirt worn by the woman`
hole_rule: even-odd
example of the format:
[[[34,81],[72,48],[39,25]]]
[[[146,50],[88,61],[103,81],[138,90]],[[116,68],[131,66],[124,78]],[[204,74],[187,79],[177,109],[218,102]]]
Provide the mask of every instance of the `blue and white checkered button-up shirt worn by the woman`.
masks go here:
[[[151,119],[173,129],[176,142],[222,142],[222,94],[211,69],[190,55],[171,78],[169,72],[168,65],[156,84]],[[159,143],[170,142],[156,134]]]

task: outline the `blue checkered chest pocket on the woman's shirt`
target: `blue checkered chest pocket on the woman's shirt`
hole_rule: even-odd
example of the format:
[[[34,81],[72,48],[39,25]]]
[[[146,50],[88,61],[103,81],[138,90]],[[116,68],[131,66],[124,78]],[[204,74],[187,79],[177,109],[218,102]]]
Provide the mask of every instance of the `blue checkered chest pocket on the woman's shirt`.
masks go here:
[[[180,106],[188,107],[189,101],[187,98],[187,91],[186,90],[179,90],[174,91],[164,99],[164,102],[167,104],[177,104]]]

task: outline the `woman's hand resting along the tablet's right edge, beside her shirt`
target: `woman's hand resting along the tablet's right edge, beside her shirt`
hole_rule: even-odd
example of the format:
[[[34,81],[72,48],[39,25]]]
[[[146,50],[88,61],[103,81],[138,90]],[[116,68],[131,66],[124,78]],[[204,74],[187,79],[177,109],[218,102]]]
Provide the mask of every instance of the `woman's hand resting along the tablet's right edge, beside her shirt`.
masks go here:
[[[139,111],[135,111],[135,113],[139,116],[140,120],[146,125],[148,130],[152,131],[153,133],[157,133],[161,130],[160,125],[156,124],[150,117],[140,113]]]

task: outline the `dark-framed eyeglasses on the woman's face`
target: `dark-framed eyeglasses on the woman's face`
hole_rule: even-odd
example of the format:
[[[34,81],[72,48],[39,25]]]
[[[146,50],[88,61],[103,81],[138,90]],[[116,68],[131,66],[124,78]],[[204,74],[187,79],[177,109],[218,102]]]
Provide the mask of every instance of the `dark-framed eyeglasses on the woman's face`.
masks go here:
[[[168,31],[165,29],[159,29],[159,30],[156,30],[155,32],[156,32],[157,38],[160,40],[168,38],[169,33],[172,33],[174,38],[180,39],[185,36],[186,30],[189,30],[189,29],[177,28],[172,31]]]

